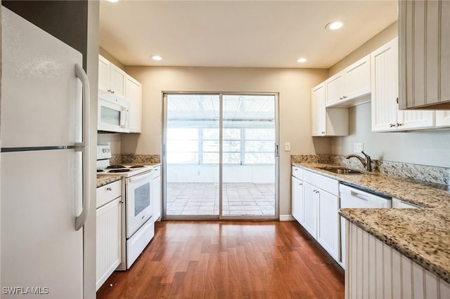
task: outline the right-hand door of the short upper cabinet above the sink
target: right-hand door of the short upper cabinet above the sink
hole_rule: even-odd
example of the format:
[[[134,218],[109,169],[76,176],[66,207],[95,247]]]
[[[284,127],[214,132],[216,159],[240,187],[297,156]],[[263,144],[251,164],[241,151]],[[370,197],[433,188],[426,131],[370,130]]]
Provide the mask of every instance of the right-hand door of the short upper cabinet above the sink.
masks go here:
[[[356,61],[345,70],[345,100],[371,93],[371,55]]]

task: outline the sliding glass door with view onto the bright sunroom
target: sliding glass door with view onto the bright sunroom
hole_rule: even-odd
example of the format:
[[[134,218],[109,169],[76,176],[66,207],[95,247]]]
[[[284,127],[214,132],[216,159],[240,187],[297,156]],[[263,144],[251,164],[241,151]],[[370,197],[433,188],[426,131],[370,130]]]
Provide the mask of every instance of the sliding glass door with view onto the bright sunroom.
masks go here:
[[[165,94],[165,218],[276,217],[276,100]]]

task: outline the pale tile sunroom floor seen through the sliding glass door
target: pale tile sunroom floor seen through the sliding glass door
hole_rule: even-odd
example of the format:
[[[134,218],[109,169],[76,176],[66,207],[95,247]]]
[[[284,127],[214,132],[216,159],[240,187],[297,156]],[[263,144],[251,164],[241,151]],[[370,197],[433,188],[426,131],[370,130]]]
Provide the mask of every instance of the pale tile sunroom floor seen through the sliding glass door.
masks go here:
[[[224,183],[222,214],[275,215],[274,184]],[[167,215],[219,215],[219,185],[167,183]]]

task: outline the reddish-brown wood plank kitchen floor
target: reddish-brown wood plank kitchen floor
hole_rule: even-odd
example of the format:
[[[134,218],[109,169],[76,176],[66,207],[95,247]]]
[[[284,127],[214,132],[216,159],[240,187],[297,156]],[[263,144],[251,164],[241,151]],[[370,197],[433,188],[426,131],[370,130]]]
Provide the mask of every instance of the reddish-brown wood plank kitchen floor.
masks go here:
[[[344,272],[297,222],[162,221],[97,298],[344,298]]]

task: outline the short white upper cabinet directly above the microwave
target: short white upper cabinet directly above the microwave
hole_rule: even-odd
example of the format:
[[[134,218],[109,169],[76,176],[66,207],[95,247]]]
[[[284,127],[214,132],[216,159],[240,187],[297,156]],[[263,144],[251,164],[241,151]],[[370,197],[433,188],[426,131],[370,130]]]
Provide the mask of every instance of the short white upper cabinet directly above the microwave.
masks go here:
[[[113,65],[102,55],[98,55],[98,89],[125,98],[125,79],[127,74]]]

